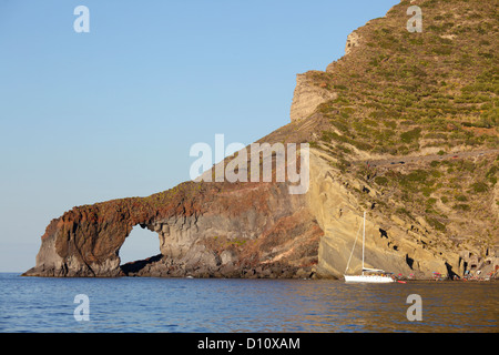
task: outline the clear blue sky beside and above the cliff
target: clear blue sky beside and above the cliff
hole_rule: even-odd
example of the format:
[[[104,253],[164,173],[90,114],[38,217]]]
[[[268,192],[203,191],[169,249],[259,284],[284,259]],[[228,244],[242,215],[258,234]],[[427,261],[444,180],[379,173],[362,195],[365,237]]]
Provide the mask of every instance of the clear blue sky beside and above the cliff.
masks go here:
[[[189,180],[192,144],[289,122],[296,74],[396,0],[0,0],[0,271],[34,266],[75,205]],[[75,7],[90,10],[77,33]],[[134,231],[122,257],[159,250]]]

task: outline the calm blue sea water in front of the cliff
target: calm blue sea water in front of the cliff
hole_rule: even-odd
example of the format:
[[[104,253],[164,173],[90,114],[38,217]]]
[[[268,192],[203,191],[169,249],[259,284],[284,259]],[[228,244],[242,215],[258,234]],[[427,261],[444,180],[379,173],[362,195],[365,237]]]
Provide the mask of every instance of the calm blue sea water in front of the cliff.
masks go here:
[[[77,322],[78,294],[90,321]],[[410,294],[422,321],[410,322]],[[498,332],[499,283],[0,274],[0,332]]]

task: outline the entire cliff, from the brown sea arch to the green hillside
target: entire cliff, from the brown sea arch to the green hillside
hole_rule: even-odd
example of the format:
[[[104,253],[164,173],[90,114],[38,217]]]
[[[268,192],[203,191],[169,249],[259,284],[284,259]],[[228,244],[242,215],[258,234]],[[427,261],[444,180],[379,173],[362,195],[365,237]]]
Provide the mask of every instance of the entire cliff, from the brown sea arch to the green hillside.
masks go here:
[[[422,32],[407,31],[409,6]],[[310,144],[306,194],[273,176],[74,207],[26,275],[342,277],[367,211],[366,266],[497,276],[497,16],[492,1],[401,1],[325,71],[299,74],[292,122],[258,142]],[[161,254],[121,265],[135,225]]]

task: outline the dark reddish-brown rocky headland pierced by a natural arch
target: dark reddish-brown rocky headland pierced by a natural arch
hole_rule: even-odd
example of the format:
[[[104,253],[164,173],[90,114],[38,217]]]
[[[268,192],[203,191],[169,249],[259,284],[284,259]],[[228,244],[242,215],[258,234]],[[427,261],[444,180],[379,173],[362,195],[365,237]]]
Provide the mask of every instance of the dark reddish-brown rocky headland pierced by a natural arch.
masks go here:
[[[75,207],[42,236],[31,276],[255,276],[310,274],[322,230],[284,183],[185,183],[164,195]],[[134,225],[161,255],[120,267]],[[264,273],[265,271],[265,273]]]

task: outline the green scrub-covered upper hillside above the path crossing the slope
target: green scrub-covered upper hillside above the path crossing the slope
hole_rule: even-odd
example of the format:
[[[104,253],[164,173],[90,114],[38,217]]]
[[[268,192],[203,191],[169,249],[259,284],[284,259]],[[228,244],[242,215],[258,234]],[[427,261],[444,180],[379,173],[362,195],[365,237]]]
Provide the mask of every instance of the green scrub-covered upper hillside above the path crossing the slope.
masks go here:
[[[422,11],[422,32],[408,32],[406,11]],[[424,148],[498,144],[497,1],[401,1],[357,30],[359,43],[310,72],[338,98],[323,103],[319,142],[404,155]]]

